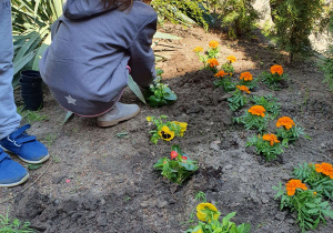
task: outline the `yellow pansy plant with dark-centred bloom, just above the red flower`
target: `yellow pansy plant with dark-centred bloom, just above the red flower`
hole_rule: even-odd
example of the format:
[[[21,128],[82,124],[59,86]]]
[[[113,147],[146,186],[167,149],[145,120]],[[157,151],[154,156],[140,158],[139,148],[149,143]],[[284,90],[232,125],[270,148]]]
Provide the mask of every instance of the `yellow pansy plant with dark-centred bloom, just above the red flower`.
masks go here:
[[[150,131],[152,133],[151,141],[157,144],[159,139],[164,141],[171,141],[174,136],[183,136],[186,131],[188,123],[186,122],[178,122],[178,121],[167,121],[163,122],[168,116],[161,115],[157,116],[147,116],[147,121],[149,124],[154,124],[157,130]]]

